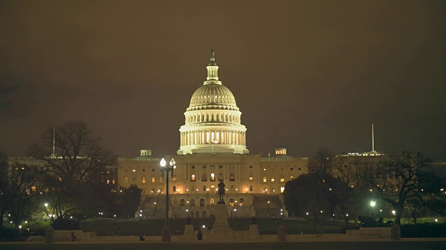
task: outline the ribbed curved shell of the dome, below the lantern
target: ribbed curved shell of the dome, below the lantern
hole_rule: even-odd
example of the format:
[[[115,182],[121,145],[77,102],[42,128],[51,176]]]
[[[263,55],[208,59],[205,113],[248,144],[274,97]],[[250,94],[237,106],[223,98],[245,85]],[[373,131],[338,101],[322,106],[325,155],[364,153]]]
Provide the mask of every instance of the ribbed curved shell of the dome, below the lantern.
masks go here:
[[[206,104],[237,106],[236,98],[229,88],[222,84],[209,83],[195,90],[190,99],[190,107]]]

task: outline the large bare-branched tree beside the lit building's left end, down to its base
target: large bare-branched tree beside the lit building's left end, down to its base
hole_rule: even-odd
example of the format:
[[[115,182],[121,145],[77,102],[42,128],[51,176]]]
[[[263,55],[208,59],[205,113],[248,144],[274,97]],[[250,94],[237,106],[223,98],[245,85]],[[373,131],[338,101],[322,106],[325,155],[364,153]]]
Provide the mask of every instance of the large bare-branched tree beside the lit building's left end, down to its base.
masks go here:
[[[59,228],[64,227],[68,215],[84,218],[97,214],[93,210],[103,209],[107,197],[107,167],[116,164],[116,156],[102,147],[84,122],[50,127],[42,141],[31,146],[31,156],[45,163],[45,212],[52,215],[54,223],[62,224]]]

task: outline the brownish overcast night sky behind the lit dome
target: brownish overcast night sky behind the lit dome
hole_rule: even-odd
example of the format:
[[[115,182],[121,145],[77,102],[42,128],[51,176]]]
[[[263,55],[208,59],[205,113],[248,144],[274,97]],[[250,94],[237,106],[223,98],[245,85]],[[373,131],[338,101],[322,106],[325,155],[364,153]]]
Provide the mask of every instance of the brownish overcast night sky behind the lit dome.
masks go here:
[[[446,1],[0,1],[0,150],[83,120],[173,154],[210,49],[250,153],[446,160]]]

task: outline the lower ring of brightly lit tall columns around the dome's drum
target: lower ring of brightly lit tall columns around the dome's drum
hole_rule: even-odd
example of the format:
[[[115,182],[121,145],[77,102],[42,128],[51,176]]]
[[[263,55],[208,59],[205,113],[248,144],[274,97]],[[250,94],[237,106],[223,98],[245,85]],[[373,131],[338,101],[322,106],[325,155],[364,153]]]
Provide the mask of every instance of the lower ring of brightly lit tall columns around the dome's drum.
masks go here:
[[[246,144],[246,132],[243,131],[186,131],[180,135],[181,146],[197,145],[197,144],[213,144],[213,140],[217,140],[216,144]]]

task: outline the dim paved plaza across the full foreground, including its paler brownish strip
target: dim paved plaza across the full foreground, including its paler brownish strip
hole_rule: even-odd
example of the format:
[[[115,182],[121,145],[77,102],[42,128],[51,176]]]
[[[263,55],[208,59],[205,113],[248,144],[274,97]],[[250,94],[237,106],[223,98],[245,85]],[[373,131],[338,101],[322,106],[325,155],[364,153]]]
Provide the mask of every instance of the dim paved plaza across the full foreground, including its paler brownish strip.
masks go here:
[[[271,235],[272,236],[272,235]],[[383,238],[345,238],[343,235],[324,235],[324,238],[317,238],[316,235],[302,235],[299,238],[293,238],[287,242],[276,242],[275,238],[261,240],[245,240],[228,242],[220,240],[181,240],[173,238],[173,242],[162,243],[160,237],[148,237],[146,241],[139,242],[137,237],[120,238],[115,240],[101,239],[79,242],[56,242],[54,244],[45,244],[43,242],[0,242],[1,250],[31,250],[31,249],[280,249],[280,250],[304,250],[304,249],[445,249],[446,238],[407,238],[399,241],[391,241]]]

